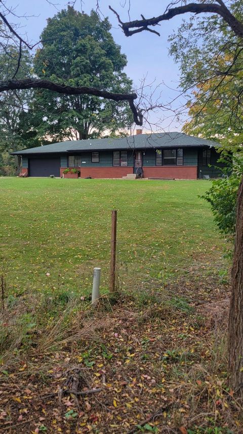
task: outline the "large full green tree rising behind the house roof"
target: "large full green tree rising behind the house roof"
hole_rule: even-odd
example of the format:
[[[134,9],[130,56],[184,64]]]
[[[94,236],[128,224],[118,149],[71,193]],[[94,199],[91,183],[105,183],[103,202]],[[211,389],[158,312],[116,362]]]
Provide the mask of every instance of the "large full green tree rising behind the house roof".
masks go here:
[[[42,48],[34,59],[35,74],[60,85],[131,92],[132,81],[123,72],[126,56],[120,53],[110,28],[108,20],[101,21],[96,12],[89,16],[68,6],[48,19],[41,35]],[[126,101],[59,95],[44,89],[34,95],[32,108],[39,120],[39,134],[55,141],[100,137],[104,131],[128,129],[133,123]]]

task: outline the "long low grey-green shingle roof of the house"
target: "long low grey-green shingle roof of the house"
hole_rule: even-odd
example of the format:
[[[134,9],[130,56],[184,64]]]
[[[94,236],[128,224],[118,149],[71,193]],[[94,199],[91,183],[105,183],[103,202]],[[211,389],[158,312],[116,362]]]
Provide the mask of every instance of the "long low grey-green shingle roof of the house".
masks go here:
[[[121,139],[88,139],[88,140],[69,140],[66,142],[53,143],[51,145],[38,146],[30,149],[12,152],[13,155],[24,154],[44,154],[44,153],[63,153],[87,150],[119,150],[119,149],[144,149],[144,148],[163,148],[163,147],[205,147],[219,146],[219,143],[198,137],[188,136],[184,133],[152,133],[137,134],[135,136],[124,137]]]

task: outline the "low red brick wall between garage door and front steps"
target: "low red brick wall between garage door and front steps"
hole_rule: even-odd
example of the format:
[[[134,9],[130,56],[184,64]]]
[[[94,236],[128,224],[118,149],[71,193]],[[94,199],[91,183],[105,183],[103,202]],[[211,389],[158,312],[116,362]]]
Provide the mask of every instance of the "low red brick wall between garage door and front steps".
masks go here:
[[[60,176],[66,167],[60,168]],[[80,178],[122,178],[133,173],[133,167],[80,167]]]

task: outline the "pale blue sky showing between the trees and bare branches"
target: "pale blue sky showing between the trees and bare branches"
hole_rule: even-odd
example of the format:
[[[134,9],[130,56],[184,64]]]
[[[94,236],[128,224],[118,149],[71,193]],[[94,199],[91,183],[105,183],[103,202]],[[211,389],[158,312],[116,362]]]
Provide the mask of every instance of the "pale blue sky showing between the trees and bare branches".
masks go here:
[[[141,14],[146,18],[163,13],[161,3],[158,0],[130,0],[131,20],[140,19]],[[167,2],[164,2],[165,6]],[[15,7],[15,13],[19,17],[13,17],[12,21],[20,24],[19,33],[27,35],[28,41],[35,43],[39,40],[43,28],[47,24],[47,18],[53,17],[59,10],[67,7],[68,0],[6,0],[8,7]],[[166,105],[178,96],[179,66],[168,54],[168,37],[180,26],[181,17],[175,17],[170,21],[164,21],[156,29],[160,37],[142,32],[127,38],[120,27],[114,14],[109,10],[111,5],[122,21],[128,21],[129,0],[99,0],[100,16],[108,16],[112,24],[111,33],[117,44],[121,46],[121,52],[127,56],[128,64],[125,69],[127,75],[132,78],[134,85],[139,87],[140,80],[146,77],[145,83],[152,84],[152,89],[160,85],[154,94],[154,99],[159,97],[159,103]],[[96,0],[76,0],[75,9],[90,13],[96,9]],[[161,83],[161,84],[160,84]],[[148,89],[148,92],[151,92]],[[177,101],[174,108],[179,107]],[[160,120],[163,118],[164,120]],[[177,121],[169,110],[157,110],[150,114],[148,124],[143,131],[180,131],[181,123]]]

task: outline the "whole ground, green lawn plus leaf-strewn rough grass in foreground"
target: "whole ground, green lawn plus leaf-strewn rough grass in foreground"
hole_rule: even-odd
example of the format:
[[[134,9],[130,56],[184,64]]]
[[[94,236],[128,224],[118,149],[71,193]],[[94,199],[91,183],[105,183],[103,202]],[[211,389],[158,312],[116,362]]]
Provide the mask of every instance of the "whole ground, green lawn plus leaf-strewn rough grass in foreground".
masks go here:
[[[226,243],[200,198],[210,185],[0,178],[1,432],[242,432],[227,389]]]

